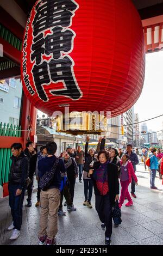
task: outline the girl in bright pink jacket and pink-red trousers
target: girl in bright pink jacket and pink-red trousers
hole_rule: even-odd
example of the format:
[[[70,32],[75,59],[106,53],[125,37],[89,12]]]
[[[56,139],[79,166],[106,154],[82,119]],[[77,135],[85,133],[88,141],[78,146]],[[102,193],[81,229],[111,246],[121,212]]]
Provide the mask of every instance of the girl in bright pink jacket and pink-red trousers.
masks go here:
[[[119,201],[120,208],[124,202],[124,199],[127,197],[128,203],[126,206],[133,205],[133,200],[130,197],[128,186],[132,181],[132,177],[135,180],[137,185],[137,177],[134,173],[133,164],[130,162],[127,154],[123,154],[120,160],[121,163],[121,174],[120,174],[120,182],[121,182],[121,196]]]

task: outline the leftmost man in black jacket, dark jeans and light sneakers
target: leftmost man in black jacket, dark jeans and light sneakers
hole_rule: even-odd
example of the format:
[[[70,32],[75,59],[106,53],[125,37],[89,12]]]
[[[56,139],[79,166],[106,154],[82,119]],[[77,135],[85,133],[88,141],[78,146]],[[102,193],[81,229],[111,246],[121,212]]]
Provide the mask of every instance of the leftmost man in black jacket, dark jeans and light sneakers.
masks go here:
[[[12,163],[8,188],[12,223],[8,227],[8,230],[13,230],[10,239],[14,240],[20,235],[22,225],[22,208],[28,177],[28,157],[22,152],[21,143],[12,144],[11,152]]]

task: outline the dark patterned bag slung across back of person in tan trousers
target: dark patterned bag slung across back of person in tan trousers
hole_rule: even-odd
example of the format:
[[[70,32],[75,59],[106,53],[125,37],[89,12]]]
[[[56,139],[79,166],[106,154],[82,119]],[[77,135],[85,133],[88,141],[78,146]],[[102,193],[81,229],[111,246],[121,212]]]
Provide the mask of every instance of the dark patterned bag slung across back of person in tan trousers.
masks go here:
[[[52,169],[46,172],[45,174],[43,174],[42,177],[40,178],[39,187],[41,188],[41,190],[46,191],[48,187],[51,185],[58,163],[59,163],[59,159],[55,161]]]

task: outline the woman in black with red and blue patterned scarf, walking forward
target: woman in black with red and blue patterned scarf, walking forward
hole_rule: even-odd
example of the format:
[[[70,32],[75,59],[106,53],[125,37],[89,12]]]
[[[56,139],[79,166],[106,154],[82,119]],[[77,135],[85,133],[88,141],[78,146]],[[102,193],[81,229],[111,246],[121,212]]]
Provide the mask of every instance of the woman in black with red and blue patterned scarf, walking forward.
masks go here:
[[[112,207],[119,199],[119,182],[117,166],[109,163],[108,152],[101,150],[98,153],[99,162],[95,162],[93,169],[87,174],[93,181],[95,190],[96,211],[102,223],[105,223],[105,245],[111,244],[112,234]]]

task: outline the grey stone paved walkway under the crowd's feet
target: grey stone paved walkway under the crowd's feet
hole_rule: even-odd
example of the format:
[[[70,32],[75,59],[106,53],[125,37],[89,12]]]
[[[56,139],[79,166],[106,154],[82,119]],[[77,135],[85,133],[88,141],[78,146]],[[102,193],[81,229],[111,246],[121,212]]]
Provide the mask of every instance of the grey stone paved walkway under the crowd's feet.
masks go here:
[[[122,223],[112,229],[113,245],[163,245],[163,186],[156,178],[155,185],[159,190],[149,188],[149,172],[142,164],[137,166],[139,185],[136,187],[134,205],[122,206]],[[130,187],[130,186],[129,186]],[[37,245],[40,209],[35,207],[36,192],[33,193],[32,207],[23,206],[23,223],[21,235],[11,241],[11,231],[7,231],[11,223],[8,200],[0,199],[0,245]],[[104,230],[95,210],[95,196],[92,197],[93,208],[83,206],[83,182],[76,182],[74,205],[76,212],[66,211],[58,221],[58,245],[104,245]],[[66,210],[66,207],[64,208]]]

